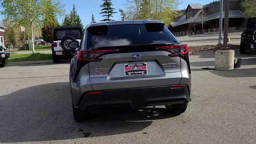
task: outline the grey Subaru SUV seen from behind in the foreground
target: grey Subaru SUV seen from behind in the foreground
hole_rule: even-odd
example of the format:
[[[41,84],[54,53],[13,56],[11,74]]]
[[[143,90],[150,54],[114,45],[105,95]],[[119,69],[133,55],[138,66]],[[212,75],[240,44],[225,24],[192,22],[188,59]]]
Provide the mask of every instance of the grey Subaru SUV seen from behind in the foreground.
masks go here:
[[[185,112],[190,99],[188,48],[157,20],[90,23],[70,64],[76,121],[108,106],[162,106]]]

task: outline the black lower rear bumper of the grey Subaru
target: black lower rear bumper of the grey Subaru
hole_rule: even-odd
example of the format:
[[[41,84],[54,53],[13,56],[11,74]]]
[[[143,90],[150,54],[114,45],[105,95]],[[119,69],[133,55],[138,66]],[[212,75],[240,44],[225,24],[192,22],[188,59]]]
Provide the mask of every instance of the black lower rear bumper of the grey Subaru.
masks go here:
[[[96,91],[99,92],[99,91]],[[103,90],[100,94],[85,92],[80,97],[78,110],[106,106],[129,106],[131,108],[180,104],[190,102],[188,87],[171,89],[170,86]]]

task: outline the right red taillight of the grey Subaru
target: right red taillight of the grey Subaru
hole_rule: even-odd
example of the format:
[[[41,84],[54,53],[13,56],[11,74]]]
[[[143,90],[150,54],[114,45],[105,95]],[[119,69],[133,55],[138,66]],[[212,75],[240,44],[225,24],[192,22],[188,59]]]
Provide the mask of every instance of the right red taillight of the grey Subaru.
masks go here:
[[[188,54],[188,46],[186,44],[181,45],[181,53],[180,53],[180,45],[174,45],[174,46],[159,46],[158,49],[166,49],[172,54],[169,54],[169,56],[181,56]]]

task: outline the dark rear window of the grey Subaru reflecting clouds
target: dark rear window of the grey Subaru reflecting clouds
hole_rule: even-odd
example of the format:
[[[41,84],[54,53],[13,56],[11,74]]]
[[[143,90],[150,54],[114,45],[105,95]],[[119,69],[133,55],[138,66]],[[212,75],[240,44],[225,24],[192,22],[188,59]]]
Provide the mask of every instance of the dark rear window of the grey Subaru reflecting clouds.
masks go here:
[[[177,40],[164,27],[155,30],[145,24],[102,26],[88,30],[87,48],[131,46],[143,44],[177,44]]]

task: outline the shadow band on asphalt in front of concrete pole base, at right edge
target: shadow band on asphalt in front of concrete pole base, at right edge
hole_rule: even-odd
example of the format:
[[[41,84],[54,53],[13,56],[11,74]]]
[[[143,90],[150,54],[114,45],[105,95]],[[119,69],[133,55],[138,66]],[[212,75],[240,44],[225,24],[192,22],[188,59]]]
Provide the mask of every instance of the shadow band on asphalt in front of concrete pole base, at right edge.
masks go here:
[[[218,76],[227,78],[242,78],[242,77],[256,77],[256,68],[244,68],[236,70],[226,70],[226,71],[210,71]]]

